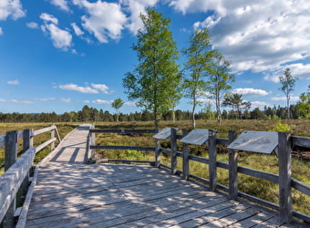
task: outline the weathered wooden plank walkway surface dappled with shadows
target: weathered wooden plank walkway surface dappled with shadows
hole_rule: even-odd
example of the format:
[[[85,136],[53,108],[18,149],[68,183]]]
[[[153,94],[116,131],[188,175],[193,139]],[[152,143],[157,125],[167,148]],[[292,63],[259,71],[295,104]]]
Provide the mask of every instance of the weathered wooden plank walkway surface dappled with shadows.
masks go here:
[[[40,166],[26,227],[299,227],[162,169],[85,164],[87,135]]]

